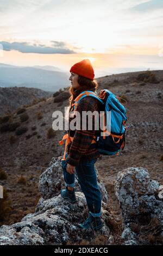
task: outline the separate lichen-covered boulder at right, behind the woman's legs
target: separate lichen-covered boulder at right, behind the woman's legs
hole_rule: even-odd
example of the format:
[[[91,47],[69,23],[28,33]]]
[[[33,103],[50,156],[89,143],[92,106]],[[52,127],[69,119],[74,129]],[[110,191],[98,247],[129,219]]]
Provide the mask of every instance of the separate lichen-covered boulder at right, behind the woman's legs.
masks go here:
[[[119,172],[115,184],[123,217],[124,245],[163,241],[163,200],[160,184],[144,168]]]

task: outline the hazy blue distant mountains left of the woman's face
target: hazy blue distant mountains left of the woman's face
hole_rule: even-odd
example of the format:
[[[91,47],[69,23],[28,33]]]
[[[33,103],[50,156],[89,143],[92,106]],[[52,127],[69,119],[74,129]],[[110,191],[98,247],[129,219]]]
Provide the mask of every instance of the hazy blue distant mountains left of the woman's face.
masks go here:
[[[0,63],[0,87],[33,87],[56,92],[70,86],[70,74],[55,66],[23,67]]]

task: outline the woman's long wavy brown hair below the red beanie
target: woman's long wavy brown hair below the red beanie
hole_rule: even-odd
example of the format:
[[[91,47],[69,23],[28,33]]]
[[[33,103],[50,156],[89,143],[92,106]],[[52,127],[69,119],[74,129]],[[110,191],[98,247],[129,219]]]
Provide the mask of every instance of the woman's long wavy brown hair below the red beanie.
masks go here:
[[[82,90],[92,90],[92,92],[95,92],[98,87],[98,83],[96,82],[96,80],[92,81],[89,78],[80,75],[78,76],[78,84],[80,85],[78,89],[74,89],[72,86],[69,88],[69,92],[71,95],[69,98],[69,112],[71,111],[71,106],[74,99],[76,99],[76,97],[80,94]]]

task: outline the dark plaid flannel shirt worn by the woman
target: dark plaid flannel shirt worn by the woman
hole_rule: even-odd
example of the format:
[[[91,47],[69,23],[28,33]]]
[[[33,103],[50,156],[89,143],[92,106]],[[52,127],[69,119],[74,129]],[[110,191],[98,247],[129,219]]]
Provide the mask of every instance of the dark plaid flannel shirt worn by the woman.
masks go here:
[[[92,143],[93,136],[98,136],[100,130],[95,130],[95,117],[92,118],[92,130],[88,130],[87,122],[86,122],[86,130],[82,130],[82,112],[83,111],[98,111],[99,112],[99,105],[101,103],[91,97],[86,96],[82,100],[79,101],[77,105],[77,111],[80,113],[80,130],[71,130],[69,127],[68,135],[73,137],[73,141],[67,145],[67,159],[66,162],[71,164],[72,166],[77,166],[79,161],[88,161],[95,159],[100,156],[97,143]],[[75,116],[73,117],[75,118]],[[69,118],[70,121],[73,118]]]

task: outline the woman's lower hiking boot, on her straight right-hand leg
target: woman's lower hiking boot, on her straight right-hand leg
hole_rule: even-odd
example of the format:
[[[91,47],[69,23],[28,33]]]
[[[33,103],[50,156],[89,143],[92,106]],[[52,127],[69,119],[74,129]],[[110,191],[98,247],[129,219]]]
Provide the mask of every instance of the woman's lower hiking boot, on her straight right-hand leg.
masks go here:
[[[79,227],[96,231],[103,227],[103,223],[100,217],[93,217],[89,214],[89,217],[86,219],[86,221],[84,223],[80,223]]]

